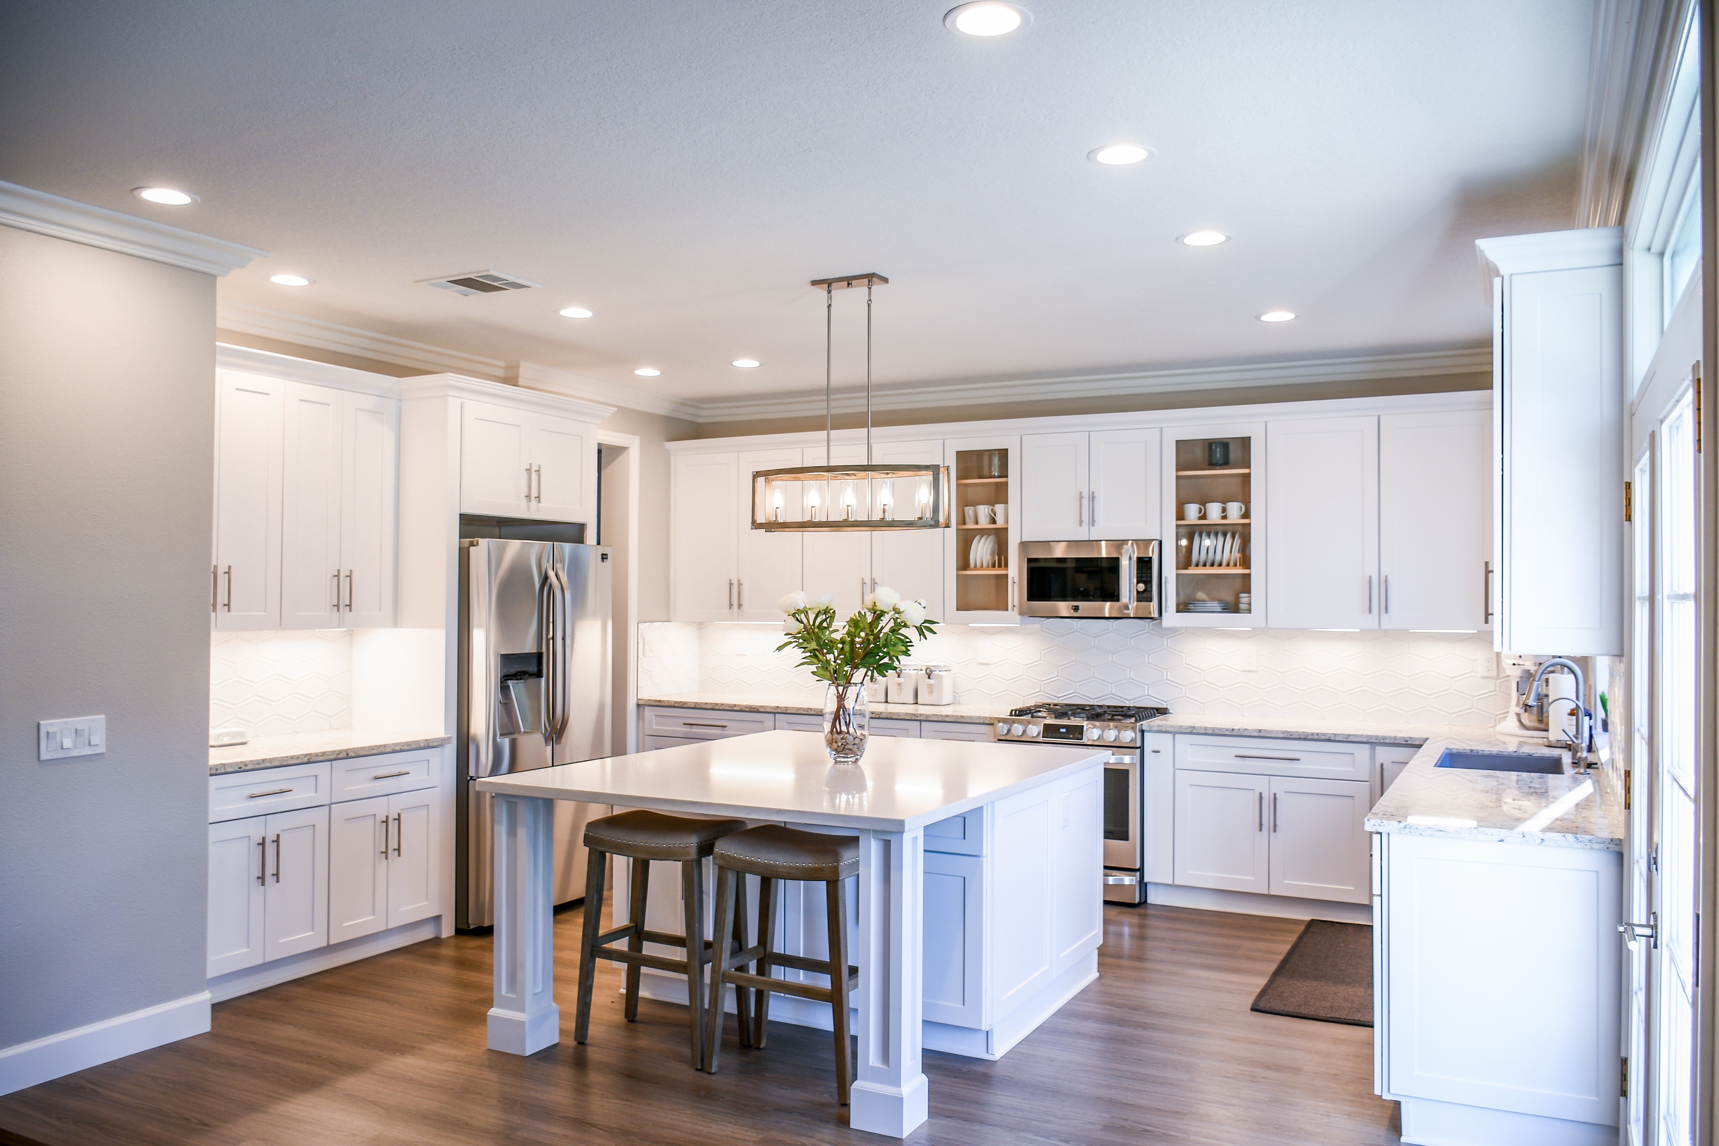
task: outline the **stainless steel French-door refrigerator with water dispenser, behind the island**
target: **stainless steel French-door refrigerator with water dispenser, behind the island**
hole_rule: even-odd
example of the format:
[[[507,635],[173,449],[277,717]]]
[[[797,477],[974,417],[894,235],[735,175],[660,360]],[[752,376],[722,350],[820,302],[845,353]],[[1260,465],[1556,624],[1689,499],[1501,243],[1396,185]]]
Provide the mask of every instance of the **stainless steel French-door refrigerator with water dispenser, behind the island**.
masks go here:
[[[610,754],[610,569],[600,545],[461,541],[459,928],[495,921],[495,797],[476,780]],[[584,895],[584,825],[605,814],[555,802],[557,904]]]

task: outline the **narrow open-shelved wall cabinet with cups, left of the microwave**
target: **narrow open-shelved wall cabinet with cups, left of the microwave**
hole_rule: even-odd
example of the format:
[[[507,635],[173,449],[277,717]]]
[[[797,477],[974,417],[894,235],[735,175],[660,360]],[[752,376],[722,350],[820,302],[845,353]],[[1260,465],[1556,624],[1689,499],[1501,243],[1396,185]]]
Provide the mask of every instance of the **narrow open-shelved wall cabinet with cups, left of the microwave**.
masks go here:
[[[1021,438],[951,438],[949,529],[944,550],[944,608],[963,625],[1018,624]]]

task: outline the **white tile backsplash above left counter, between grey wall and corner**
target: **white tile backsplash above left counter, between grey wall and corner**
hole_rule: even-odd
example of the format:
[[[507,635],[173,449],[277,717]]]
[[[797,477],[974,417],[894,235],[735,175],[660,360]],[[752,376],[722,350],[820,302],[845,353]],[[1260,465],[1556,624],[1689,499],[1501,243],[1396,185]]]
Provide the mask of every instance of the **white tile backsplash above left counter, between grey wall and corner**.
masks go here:
[[[251,735],[352,727],[352,634],[211,632],[210,727]]]

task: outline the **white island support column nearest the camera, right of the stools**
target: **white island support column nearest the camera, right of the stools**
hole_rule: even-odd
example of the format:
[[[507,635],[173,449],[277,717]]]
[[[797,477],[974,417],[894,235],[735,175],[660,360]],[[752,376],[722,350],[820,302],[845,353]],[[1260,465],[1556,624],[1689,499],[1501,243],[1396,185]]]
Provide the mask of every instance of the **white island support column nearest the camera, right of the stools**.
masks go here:
[[[860,833],[860,1070],[847,1124],[906,1137],[928,1115],[923,1046],[925,832]]]

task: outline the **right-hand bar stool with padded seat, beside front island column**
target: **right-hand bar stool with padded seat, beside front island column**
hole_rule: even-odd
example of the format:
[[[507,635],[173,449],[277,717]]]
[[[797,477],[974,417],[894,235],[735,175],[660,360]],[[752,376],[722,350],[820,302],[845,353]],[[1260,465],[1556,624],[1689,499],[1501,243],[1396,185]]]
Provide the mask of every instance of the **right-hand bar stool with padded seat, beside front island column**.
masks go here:
[[[853,1067],[847,1048],[847,993],[860,979],[860,969],[847,964],[847,893],[842,880],[860,871],[860,837],[823,835],[780,825],[746,828],[717,840],[712,852],[717,866],[717,914],[713,931],[741,936],[743,950],[725,950],[717,955],[710,974],[710,1022],[705,1039],[705,1070],[717,1072],[717,1052],[722,1045],[722,986],[732,983],[736,995],[744,988],[758,993],[753,1003],[751,1045],[763,1050],[765,1022],[770,1015],[770,993],[798,995],[830,1005],[835,1027],[835,1096],[847,1105],[853,1086]],[[758,945],[746,947],[746,880],[758,880]],[[825,914],[830,935],[829,960],[784,955],[775,947],[775,883],[799,880],[823,883]],[[736,971],[741,964],[756,964],[758,974]],[[830,976],[829,986],[811,986],[770,976],[770,967],[791,967]],[[837,974],[835,969],[842,972]],[[746,1045],[746,1021],[741,1019],[741,1045]]]

